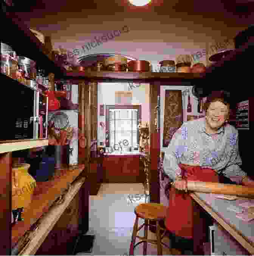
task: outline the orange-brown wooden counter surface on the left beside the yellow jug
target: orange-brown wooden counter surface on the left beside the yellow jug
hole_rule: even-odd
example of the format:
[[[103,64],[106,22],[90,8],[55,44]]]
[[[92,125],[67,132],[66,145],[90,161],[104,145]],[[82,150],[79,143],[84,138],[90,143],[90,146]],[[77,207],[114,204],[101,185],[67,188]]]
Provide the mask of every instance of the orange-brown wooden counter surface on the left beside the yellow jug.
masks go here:
[[[12,227],[12,245],[33,225],[44,213],[48,212],[50,206],[68,188],[77,176],[84,170],[85,165],[77,165],[69,169],[60,170],[60,175],[54,180],[37,182],[33,195],[33,201],[23,213],[24,221],[18,222]]]

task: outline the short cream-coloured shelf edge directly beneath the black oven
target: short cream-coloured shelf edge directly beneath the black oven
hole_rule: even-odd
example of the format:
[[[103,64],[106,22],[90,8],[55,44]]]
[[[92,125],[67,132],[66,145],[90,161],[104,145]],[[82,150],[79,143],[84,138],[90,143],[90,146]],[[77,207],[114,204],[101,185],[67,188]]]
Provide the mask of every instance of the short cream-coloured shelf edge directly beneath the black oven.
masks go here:
[[[0,141],[0,153],[43,147],[47,145],[48,139],[5,140]]]

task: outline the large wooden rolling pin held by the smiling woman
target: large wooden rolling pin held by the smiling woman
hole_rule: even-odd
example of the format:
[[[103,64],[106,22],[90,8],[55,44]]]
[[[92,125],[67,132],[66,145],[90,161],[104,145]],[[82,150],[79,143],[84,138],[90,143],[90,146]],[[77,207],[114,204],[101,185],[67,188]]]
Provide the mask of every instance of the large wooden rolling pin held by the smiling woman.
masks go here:
[[[254,198],[254,187],[222,184],[215,182],[187,181],[187,190],[203,193],[237,195]]]

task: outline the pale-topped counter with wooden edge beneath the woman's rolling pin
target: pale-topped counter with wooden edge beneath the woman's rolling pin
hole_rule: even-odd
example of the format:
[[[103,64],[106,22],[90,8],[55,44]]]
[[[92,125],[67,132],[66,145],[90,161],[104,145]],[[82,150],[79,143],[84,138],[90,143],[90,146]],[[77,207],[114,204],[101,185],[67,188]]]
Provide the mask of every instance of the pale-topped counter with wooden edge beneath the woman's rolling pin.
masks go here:
[[[254,220],[245,222],[235,217],[236,213],[229,211],[229,205],[239,206],[240,203],[254,199],[239,197],[236,200],[215,198],[215,194],[195,192],[190,196],[234,237],[250,254],[254,254]],[[208,227],[207,227],[208,228]]]

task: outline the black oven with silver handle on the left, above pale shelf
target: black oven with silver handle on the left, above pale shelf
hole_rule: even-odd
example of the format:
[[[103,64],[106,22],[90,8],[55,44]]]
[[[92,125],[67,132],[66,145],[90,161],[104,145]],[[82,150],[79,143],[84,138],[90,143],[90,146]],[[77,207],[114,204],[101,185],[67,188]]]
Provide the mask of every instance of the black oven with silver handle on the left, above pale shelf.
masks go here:
[[[6,79],[2,90],[0,140],[47,138],[48,97],[11,78]]]

